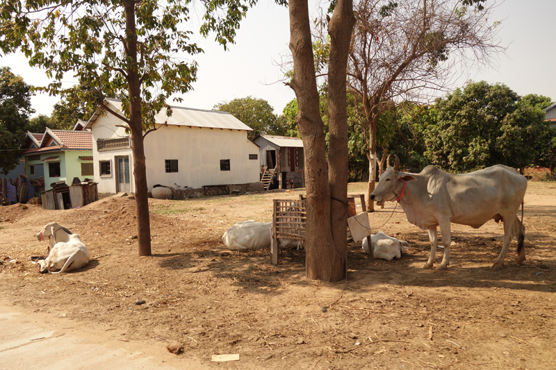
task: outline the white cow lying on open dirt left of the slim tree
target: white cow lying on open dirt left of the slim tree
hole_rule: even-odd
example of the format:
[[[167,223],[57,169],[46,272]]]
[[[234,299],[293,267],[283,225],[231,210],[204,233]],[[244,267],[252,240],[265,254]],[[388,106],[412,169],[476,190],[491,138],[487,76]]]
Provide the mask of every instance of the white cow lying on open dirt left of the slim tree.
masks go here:
[[[52,246],[47,259],[38,261],[40,273],[60,274],[63,271],[81,269],[91,258],[79,235],[56,222],[44,225],[35,237],[39,240],[49,237]]]

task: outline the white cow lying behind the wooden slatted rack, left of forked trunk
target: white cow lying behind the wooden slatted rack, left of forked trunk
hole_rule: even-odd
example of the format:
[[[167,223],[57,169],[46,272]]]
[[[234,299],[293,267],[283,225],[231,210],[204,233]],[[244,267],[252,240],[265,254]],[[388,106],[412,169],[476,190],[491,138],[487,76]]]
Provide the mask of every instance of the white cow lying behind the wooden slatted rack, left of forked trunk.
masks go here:
[[[233,251],[270,248],[271,229],[272,222],[253,220],[238,222],[222,235],[222,242]],[[296,246],[298,242],[297,240],[281,239],[280,244],[281,246]]]

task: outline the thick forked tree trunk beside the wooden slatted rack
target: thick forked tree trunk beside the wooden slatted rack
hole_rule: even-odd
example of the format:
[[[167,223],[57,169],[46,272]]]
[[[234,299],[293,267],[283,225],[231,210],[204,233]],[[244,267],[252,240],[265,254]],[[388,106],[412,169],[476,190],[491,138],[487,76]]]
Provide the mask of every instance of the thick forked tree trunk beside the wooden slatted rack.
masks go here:
[[[346,19],[343,19],[343,17],[345,17],[346,8],[351,9],[350,4],[350,0],[340,0],[336,3],[336,9],[340,8],[340,10],[335,10],[333,18],[337,16],[338,20],[331,21],[331,36],[336,37],[336,43],[345,42],[343,38],[345,35],[340,31],[345,27],[343,22],[346,22]],[[336,144],[334,146],[341,145],[343,140],[345,140],[346,148],[343,159],[341,158],[343,149],[334,149],[340,158],[334,158],[333,163],[330,165],[330,180],[333,182],[333,185],[329,186],[325,131],[319,110],[319,96],[313,62],[307,0],[291,0],[289,2],[289,10],[290,49],[293,55],[294,70],[290,86],[297,96],[299,106],[297,122],[303,137],[305,152],[307,190],[307,221],[305,230],[306,276],[311,279],[339,281],[345,277],[346,271],[345,216],[338,217],[341,220],[338,220],[336,216],[338,213],[341,215],[341,212],[345,212],[345,205],[341,202],[345,201],[347,195],[347,176],[343,176],[343,171],[340,169],[341,166],[347,167],[347,119],[343,118],[345,121],[345,138],[343,137],[341,125],[337,125],[336,128],[331,130],[334,131],[334,134],[332,134],[335,137],[333,141]],[[353,17],[352,12],[350,14]],[[338,22],[337,26],[334,26],[334,22]],[[348,28],[350,28],[349,25],[349,19],[347,19]],[[351,35],[351,28],[349,33]],[[350,39],[348,38],[345,44],[349,45],[349,41]],[[339,45],[336,44],[336,47],[339,47]],[[336,58],[341,59],[341,51],[331,51],[331,60],[333,58],[334,60]],[[347,60],[347,52],[345,52],[343,58]],[[345,84],[345,66],[343,67],[343,72],[341,70],[338,71],[341,68],[341,63],[336,62],[334,64],[333,69],[336,71],[334,73],[343,74],[343,83]],[[330,71],[330,74],[332,73]],[[336,86],[334,88],[336,89],[338,88],[338,80],[335,79],[334,81],[336,81],[334,82]],[[345,115],[345,87],[343,94],[343,113],[342,108],[338,106],[341,106],[341,101],[336,102],[336,105],[332,108],[334,119]],[[337,94],[336,99],[338,99]],[[334,126],[334,124],[331,124],[331,126]],[[332,143],[330,146],[332,146]],[[345,182],[345,185],[342,185],[342,182]],[[331,212],[331,189],[334,194],[340,196],[340,202],[334,201],[340,205],[339,208],[337,205],[334,205],[334,213]],[[341,226],[336,224],[341,224]],[[342,235],[341,228],[343,228],[342,237],[340,237]],[[334,237],[336,237],[336,240]]]

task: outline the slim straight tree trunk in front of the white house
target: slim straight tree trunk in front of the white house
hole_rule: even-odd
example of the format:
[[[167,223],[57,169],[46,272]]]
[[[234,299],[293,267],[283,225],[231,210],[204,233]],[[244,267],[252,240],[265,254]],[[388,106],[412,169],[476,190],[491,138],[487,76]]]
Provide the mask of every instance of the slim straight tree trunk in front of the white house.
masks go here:
[[[141,87],[137,69],[137,33],[135,2],[124,0],[126,15],[126,53],[131,60],[126,70],[129,87],[129,128],[131,130],[131,151],[133,152],[133,177],[135,178],[135,199],[137,204],[137,236],[139,255],[151,255],[151,225],[149,201],[147,199],[147,171],[141,117]]]

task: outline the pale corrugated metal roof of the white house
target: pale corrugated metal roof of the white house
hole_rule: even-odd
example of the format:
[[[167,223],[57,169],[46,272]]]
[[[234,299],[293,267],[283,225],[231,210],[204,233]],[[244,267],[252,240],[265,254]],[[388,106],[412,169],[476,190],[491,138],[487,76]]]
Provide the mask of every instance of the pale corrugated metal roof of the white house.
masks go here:
[[[118,110],[122,110],[122,102],[117,99],[106,99]],[[201,128],[220,128],[222,130],[253,131],[252,128],[229,114],[218,110],[202,110],[172,106],[172,116],[167,117],[166,110],[161,110],[154,117],[156,124],[189,126]],[[89,126],[89,125],[88,125]]]

